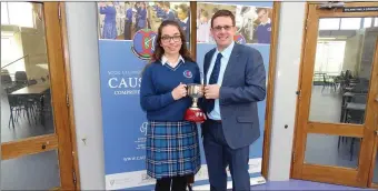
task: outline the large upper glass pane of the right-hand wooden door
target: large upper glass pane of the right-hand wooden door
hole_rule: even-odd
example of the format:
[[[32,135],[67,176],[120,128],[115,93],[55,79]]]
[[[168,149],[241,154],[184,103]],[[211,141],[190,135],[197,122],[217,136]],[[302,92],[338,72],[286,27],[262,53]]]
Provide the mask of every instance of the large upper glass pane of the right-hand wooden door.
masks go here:
[[[319,21],[332,26],[319,26],[309,120],[364,124],[378,29],[364,28],[361,18],[339,20],[338,31],[328,30],[336,19]]]

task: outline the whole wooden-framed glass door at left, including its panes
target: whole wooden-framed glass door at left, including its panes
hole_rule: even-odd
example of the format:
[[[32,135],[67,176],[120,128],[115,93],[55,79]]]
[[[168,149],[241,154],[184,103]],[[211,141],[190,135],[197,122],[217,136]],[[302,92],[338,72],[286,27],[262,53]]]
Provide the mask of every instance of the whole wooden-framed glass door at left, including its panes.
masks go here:
[[[58,2],[1,2],[1,189],[73,190]]]

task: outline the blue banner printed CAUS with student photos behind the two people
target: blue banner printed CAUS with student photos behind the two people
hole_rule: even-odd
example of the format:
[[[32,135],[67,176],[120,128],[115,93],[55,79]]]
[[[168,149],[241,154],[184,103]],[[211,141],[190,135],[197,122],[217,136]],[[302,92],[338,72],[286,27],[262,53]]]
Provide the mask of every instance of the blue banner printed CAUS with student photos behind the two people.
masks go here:
[[[189,6],[188,2],[170,2],[168,11],[172,12],[170,16],[165,16],[162,11],[165,8],[157,2],[98,3],[107,190],[153,190],[155,180],[147,175],[145,162],[147,119],[139,102],[141,71],[153,52],[156,31],[161,21],[167,17],[173,17],[178,21],[186,20],[178,16],[190,18],[182,12],[177,14],[182,11],[178,9],[182,3]],[[265,39],[270,39],[270,29],[267,24],[270,24],[272,2],[198,2],[197,62],[200,69],[202,70],[205,53],[216,47],[208,32],[211,11],[213,8],[222,7],[236,14],[238,28],[236,42],[260,51],[268,76],[270,41]],[[265,11],[260,11],[262,8]],[[189,27],[183,28],[190,30]],[[259,102],[261,135],[250,147],[251,184],[265,182],[261,177],[265,110],[266,102]],[[196,174],[195,188],[208,189],[206,159],[202,143],[200,144],[202,167]]]

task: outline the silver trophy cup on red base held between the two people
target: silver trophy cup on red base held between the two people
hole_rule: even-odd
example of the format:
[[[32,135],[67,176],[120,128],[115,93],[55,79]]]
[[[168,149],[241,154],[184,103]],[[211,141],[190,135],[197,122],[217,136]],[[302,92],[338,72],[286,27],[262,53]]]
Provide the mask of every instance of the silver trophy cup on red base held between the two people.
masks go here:
[[[203,86],[198,83],[187,84],[188,96],[192,98],[193,103],[185,113],[185,120],[192,122],[203,122],[205,113],[198,107],[198,99],[203,97]]]

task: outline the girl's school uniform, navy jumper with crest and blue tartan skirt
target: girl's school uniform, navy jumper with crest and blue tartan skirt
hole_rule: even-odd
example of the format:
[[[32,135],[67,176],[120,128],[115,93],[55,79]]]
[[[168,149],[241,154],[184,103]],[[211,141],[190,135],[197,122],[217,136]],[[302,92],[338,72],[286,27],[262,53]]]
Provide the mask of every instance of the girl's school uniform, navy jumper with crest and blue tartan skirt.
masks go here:
[[[182,83],[200,83],[197,63],[179,59],[172,68],[163,57],[147,66],[140,87],[140,104],[147,112],[146,164],[155,179],[196,174],[200,169],[197,125],[185,121],[190,97],[175,100],[171,91]]]

